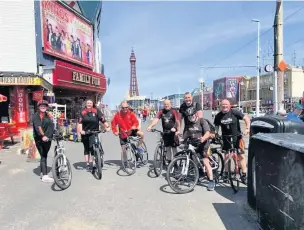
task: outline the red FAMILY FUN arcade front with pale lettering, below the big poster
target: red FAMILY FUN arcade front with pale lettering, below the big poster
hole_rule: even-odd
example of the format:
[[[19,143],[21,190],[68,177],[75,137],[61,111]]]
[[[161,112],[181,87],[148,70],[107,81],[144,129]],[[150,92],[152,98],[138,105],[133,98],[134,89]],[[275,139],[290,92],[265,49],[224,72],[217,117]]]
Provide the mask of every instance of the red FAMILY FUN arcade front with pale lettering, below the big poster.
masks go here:
[[[98,102],[106,92],[106,78],[103,74],[58,60],[53,70],[53,85],[55,102],[66,105],[68,119],[79,117],[86,99]]]

